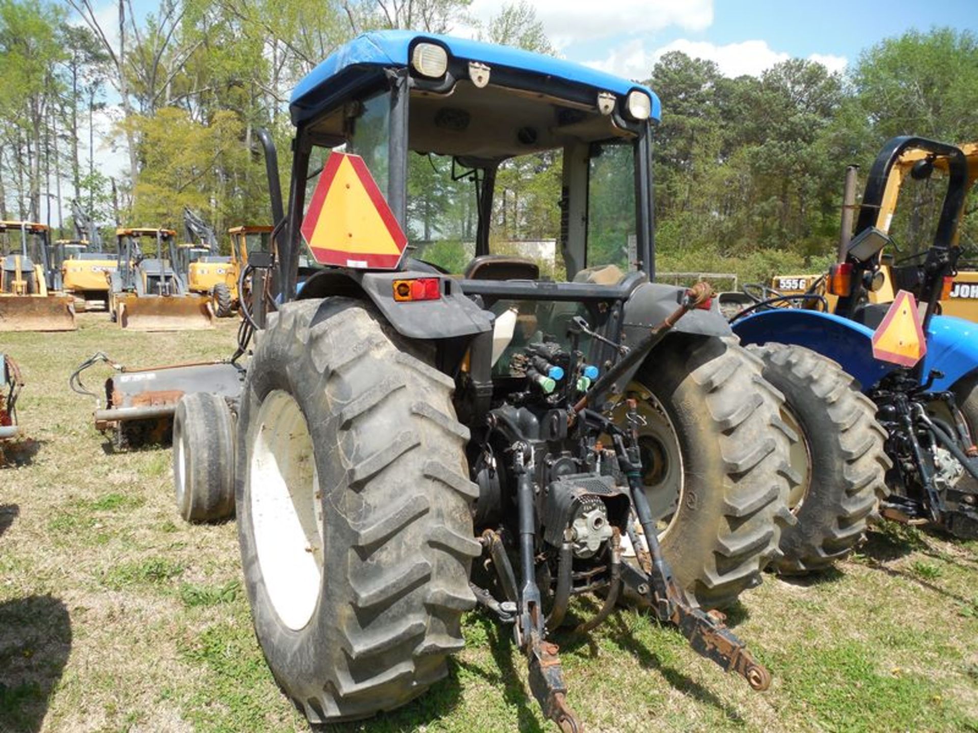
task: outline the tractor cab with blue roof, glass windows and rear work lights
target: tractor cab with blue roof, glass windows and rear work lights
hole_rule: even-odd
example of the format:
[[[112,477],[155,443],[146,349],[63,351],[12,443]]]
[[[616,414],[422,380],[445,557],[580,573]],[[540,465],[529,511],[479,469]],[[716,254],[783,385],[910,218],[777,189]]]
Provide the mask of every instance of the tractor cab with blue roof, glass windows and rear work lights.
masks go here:
[[[649,89],[454,38],[368,34],[351,48],[292,95],[304,182],[293,221],[317,218],[333,152],[356,153],[406,236],[404,268],[465,280],[587,281],[582,271],[607,265],[652,274]],[[324,257],[328,238],[305,237],[312,259],[383,260],[352,256],[357,246],[338,250],[352,253],[345,262]]]

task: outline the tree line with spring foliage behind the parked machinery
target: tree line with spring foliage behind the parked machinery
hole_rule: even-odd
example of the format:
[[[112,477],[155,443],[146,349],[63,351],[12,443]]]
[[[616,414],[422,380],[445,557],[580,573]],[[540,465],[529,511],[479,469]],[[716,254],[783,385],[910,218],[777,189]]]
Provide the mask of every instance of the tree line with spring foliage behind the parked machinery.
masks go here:
[[[491,42],[555,53],[526,0],[481,25],[468,2],[159,0],[139,15],[131,0],[111,14],[92,0],[0,0],[0,216],[67,225],[77,197],[111,226],[177,227],[184,206],[218,232],[266,222],[254,130],[270,129],[287,151],[291,88],[354,35],[464,24]],[[886,39],[845,73],[792,59],[729,78],[673,52],[647,83],[663,108],[654,147],[660,269],[754,278],[821,267],[838,237],[847,163],[867,170],[896,134],[978,134],[978,44],[967,30]],[[127,151],[121,175],[100,164],[111,145]],[[505,237],[554,237],[556,160],[501,171],[494,222]],[[431,192],[416,198],[422,229],[433,208],[460,205],[452,191],[430,188],[423,169],[409,187]]]

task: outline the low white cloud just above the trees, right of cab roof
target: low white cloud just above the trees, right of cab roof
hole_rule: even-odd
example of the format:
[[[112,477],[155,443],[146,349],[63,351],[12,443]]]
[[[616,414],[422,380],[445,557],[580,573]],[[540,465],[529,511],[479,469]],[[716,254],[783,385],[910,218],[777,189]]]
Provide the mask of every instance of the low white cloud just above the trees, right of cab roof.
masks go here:
[[[742,74],[759,76],[765,69],[790,58],[787,53],[775,51],[768,45],[767,41],[760,40],[718,46],[709,41],[690,41],[686,38],[679,38],[665,46],[646,50],[642,39],[635,39],[612,50],[603,60],[586,62],[586,64],[621,76],[645,79],[655,62],[670,51],[682,51],[693,59],[707,59],[715,62],[725,76],[740,76]],[[844,57],[830,54],[812,54],[809,60],[827,66],[830,71],[841,71],[846,65]]]

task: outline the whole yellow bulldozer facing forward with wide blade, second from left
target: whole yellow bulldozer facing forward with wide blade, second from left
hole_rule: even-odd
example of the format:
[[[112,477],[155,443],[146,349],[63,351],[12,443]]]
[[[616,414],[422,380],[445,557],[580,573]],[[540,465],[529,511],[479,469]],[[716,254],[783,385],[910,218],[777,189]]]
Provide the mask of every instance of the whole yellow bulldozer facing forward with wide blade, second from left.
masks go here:
[[[189,291],[175,267],[176,232],[169,229],[117,229],[118,264],[111,274],[112,320],[123,328],[142,331],[211,328],[210,298]],[[144,254],[145,241],[151,255]],[[156,256],[152,256],[156,249]]]

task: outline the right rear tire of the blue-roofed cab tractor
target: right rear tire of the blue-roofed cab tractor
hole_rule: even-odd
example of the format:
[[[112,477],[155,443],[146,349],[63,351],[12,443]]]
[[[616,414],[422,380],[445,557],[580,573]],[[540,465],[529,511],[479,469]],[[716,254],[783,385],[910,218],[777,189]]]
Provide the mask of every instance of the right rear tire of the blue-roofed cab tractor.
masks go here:
[[[761,583],[782,529],[794,523],[794,435],[779,417],[782,398],[744,349],[682,333],[652,353],[628,391],[640,413],[644,404],[654,410],[640,447],[663,555],[700,606],[730,606]],[[656,411],[668,430],[656,428]]]

